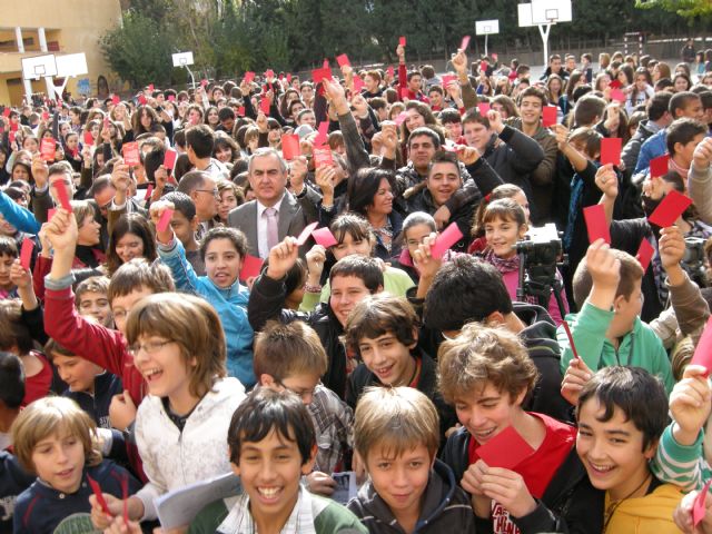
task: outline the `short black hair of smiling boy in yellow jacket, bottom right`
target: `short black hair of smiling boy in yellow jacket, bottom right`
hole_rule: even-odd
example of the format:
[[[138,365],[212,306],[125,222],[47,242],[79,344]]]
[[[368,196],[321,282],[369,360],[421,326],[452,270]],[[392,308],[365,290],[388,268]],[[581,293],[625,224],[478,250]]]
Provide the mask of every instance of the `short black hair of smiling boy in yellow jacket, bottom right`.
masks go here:
[[[641,367],[611,366],[600,369],[578,396],[581,407],[595,397],[605,412],[601,423],[611,421],[617,407],[626,421],[643,433],[643,452],[660,439],[668,425],[668,395],[659,378]]]

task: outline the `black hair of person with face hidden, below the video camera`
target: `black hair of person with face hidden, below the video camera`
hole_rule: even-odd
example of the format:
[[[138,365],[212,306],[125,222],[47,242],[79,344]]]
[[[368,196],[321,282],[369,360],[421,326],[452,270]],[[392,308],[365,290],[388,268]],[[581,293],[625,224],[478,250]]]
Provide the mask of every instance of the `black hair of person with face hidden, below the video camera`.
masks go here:
[[[441,332],[459,330],[490,315],[513,310],[512,299],[500,271],[473,256],[456,256],[441,267],[425,297],[423,320]]]

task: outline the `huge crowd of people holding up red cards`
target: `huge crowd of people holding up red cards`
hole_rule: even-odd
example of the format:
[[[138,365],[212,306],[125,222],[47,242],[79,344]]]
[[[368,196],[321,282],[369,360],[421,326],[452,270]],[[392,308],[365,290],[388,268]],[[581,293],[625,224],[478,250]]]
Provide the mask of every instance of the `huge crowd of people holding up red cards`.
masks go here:
[[[4,108],[2,532],[712,532],[712,50],[406,50]]]

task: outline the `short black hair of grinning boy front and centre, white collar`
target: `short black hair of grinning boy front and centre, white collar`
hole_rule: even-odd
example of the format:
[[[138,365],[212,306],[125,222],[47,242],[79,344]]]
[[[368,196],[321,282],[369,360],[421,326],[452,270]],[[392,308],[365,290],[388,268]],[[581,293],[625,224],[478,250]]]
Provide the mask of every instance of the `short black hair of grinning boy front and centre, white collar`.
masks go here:
[[[230,462],[239,465],[243,444],[261,442],[271,432],[297,444],[301,465],[309,462],[316,434],[307,407],[294,393],[274,392],[267,387],[254,389],[233,414],[227,431]]]

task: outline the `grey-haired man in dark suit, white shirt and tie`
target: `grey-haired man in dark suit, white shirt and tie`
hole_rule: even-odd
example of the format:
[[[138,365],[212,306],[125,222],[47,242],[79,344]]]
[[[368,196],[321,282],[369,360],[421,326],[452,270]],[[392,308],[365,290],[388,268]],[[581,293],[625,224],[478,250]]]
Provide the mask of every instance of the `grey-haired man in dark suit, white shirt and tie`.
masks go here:
[[[228,226],[247,236],[249,254],[265,259],[269,249],[286,236],[298,236],[316,220],[319,195],[304,184],[306,165],[293,162],[291,186],[287,190],[287,164],[273,148],[261,148],[249,159],[249,185],[255,200],[238,206],[228,216]]]

